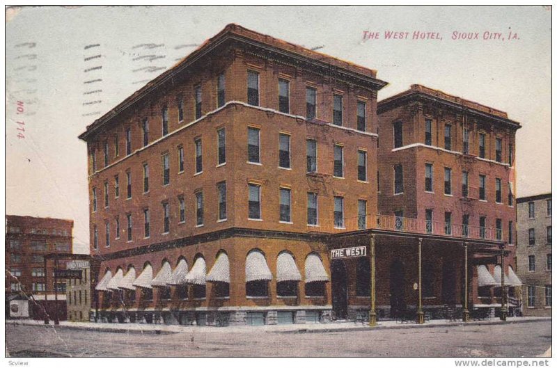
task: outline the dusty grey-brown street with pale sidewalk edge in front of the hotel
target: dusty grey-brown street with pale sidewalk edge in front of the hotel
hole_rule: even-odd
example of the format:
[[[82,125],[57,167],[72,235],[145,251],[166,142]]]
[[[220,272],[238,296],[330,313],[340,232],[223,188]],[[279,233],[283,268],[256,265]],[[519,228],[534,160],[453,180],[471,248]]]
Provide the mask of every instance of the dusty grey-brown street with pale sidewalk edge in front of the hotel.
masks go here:
[[[551,319],[489,322],[383,322],[375,329],[354,323],[212,328],[19,322],[6,323],[6,344],[12,357],[532,357],[551,345]]]

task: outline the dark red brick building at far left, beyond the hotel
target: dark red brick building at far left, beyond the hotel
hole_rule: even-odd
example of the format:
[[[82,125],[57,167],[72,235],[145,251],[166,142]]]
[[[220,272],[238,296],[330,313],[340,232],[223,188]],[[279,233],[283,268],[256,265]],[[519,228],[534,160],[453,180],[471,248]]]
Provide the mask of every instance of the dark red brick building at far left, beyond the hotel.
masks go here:
[[[58,218],[6,216],[6,297],[29,298],[30,315],[43,319],[54,315],[54,268],[49,265],[45,285],[45,255],[72,252],[73,221]],[[59,267],[64,267],[60,262]],[[58,316],[65,319],[65,282],[58,281]]]

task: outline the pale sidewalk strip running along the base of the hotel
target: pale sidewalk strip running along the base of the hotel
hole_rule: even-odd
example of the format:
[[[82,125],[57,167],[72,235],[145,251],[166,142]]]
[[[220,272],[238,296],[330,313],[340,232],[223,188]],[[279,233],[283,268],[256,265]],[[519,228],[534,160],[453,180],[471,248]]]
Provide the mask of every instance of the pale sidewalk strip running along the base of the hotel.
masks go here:
[[[331,323],[306,323],[306,324],[290,324],[290,325],[265,325],[265,326],[180,326],[180,325],[164,325],[164,324],[142,324],[142,323],[93,323],[93,322],[70,322],[61,321],[60,325],[54,326],[53,322],[45,325],[44,321],[34,321],[30,319],[7,320],[6,323],[14,325],[26,326],[42,326],[45,328],[71,328],[77,330],[95,330],[107,333],[152,333],[152,334],[169,334],[169,333],[185,333],[195,331],[196,333],[246,333],[256,330],[267,333],[327,333],[337,331],[358,331],[358,330],[384,330],[384,329],[400,329],[400,328],[434,328],[449,326],[482,326],[503,323],[528,323],[535,321],[551,321],[551,317],[509,317],[507,321],[499,319],[487,319],[485,321],[470,321],[464,323],[462,321],[448,322],[444,319],[434,319],[427,321],[423,325],[417,323],[400,323],[398,321],[380,321],[377,326],[370,328],[366,324],[354,323],[349,321],[336,321]],[[551,323],[551,322],[550,322]]]

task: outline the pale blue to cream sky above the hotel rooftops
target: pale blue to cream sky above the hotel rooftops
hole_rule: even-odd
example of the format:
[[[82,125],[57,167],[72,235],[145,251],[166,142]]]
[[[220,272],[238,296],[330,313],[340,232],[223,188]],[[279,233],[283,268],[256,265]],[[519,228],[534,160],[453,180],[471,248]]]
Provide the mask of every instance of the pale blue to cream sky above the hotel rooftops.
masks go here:
[[[551,10],[541,6],[35,7],[9,15],[6,211],[74,219],[80,252],[88,193],[86,145],[77,136],[95,113],[232,22],[377,70],[390,83],[379,99],[421,83],[507,111],[523,125],[518,195],[551,191]],[[389,30],[439,32],[443,40],[384,40]],[[382,38],[363,41],[363,31]],[[453,31],[479,32],[480,40],[450,40]],[[485,31],[505,40],[481,40]],[[519,39],[507,40],[509,31]],[[102,81],[84,83],[95,79]],[[26,102],[22,115],[17,99]],[[15,122],[22,119],[24,139]]]

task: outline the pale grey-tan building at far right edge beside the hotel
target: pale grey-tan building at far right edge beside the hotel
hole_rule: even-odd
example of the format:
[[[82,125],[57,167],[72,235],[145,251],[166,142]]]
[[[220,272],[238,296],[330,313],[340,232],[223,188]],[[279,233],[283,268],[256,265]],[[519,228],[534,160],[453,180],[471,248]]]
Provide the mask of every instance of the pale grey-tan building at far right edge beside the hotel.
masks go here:
[[[517,198],[517,273],[526,316],[551,316],[551,193]]]

